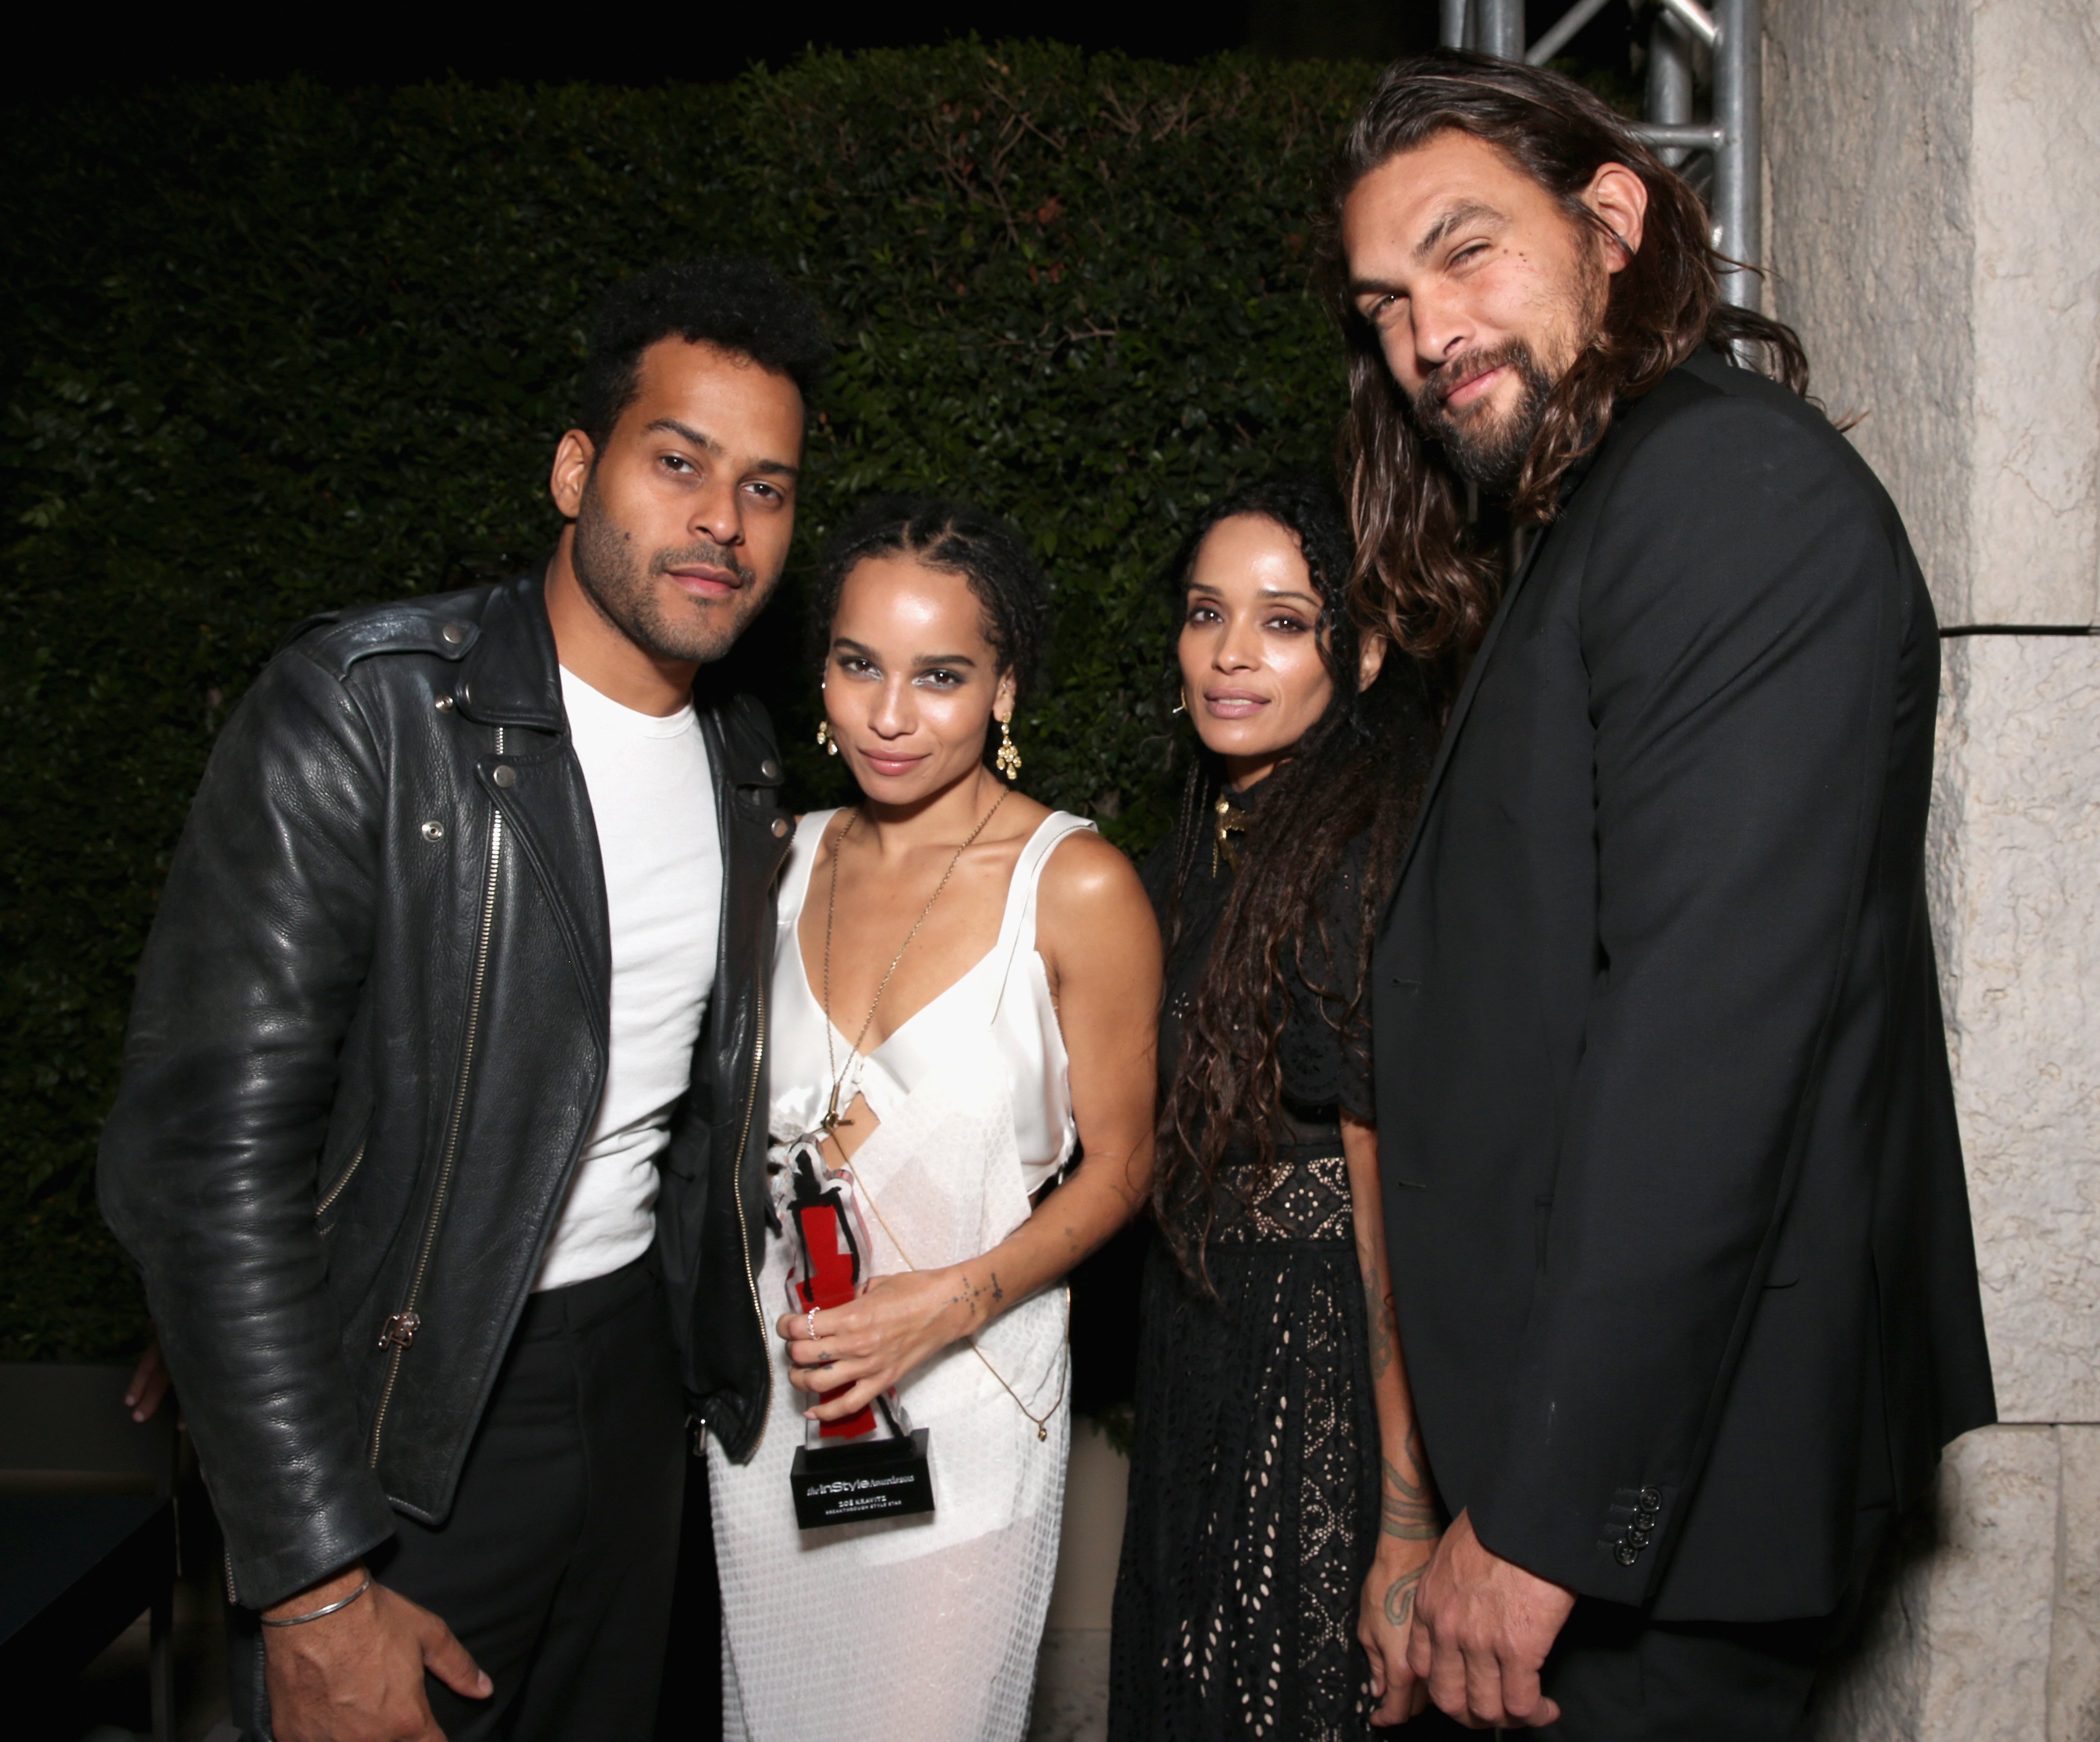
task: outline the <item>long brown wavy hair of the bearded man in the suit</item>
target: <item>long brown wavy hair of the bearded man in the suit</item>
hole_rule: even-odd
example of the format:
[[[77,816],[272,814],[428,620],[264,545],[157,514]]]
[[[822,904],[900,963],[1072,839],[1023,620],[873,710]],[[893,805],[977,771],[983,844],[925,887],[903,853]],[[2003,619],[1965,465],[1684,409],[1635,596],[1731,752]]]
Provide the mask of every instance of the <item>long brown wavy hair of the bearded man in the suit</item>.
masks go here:
[[[1378,334],[1350,302],[1342,201],[1380,164],[1451,130],[1502,151],[1604,246],[1619,239],[1581,199],[1592,176],[1625,164],[1648,189],[1640,252],[1613,275],[1598,332],[1546,401],[1510,500],[1514,523],[1550,521],[1562,474],[1604,439],[1615,407],[1655,388],[1701,344],[1735,346],[1808,392],[1800,338],[1722,300],[1720,269],[1735,262],[1714,250],[1705,206],[1602,101],[1560,73],[1487,55],[1438,50],[1388,67],[1329,172],[1319,277],[1348,344],[1340,468],[1357,531],[1354,609],[1445,674],[1487,630],[1502,558],[1472,535],[1464,483],[1415,426]]]

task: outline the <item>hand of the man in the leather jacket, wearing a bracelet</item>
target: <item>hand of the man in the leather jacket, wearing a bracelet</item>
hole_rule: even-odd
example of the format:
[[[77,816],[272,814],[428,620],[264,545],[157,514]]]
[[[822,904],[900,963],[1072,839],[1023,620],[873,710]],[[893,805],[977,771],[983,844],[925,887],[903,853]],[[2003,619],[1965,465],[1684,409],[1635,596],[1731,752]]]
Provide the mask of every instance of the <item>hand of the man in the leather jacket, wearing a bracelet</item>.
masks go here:
[[[349,1597],[363,1578],[353,1566],[265,1616],[309,1614]],[[265,1627],[262,1650],[277,1742],[445,1742],[422,1673],[468,1700],[496,1692],[445,1622],[384,1585],[319,1620]]]

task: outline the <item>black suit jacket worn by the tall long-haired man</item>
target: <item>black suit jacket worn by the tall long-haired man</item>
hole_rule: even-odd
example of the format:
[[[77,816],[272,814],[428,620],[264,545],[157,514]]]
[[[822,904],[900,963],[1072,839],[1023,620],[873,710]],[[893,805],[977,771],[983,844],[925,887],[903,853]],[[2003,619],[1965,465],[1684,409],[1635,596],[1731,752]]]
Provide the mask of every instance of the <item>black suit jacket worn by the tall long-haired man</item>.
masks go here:
[[[1430,1465],[1657,1618],[1833,1608],[1993,1419],[1894,504],[1714,353],[1611,434],[1468,674],[1378,951]]]

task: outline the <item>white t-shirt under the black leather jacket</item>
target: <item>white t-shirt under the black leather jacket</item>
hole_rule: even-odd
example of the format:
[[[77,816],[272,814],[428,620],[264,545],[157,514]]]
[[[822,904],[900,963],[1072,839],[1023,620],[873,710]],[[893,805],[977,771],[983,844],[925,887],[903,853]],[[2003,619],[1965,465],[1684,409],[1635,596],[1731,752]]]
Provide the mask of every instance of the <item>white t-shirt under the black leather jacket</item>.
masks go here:
[[[605,863],[613,1049],[536,1289],[586,1282],[649,1251],[657,1156],[693,1077],[722,926],[714,777],[691,705],[636,714],[567,670],[561,699]]]

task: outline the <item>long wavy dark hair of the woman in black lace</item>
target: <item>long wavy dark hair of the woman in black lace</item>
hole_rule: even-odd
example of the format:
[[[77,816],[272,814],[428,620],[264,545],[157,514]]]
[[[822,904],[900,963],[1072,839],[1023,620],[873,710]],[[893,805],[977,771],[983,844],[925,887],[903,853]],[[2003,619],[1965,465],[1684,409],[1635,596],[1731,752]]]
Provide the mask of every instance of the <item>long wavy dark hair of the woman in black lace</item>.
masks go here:
[[[1390,651],[1378,680],[1357,688],[1363,640],[1350,617],[1354,552],[1329,487],[1266,479],[1203,514],[1170,571],[1176,617],[1186,611],[1203,539],[1237,514],[1260,514],[1296,535],[1321,600],[1317,636],[1334,699],[1262,787],[1159,1112],[1153,1209],[1191,1276],[1203,1274],[1216,1188],[1245,1184],[1239,1163],[1250,1150],[1256,1159],[1275,1152],[1283,1127],[1277,1045],[1292,1010],[1292,978],[1338,997],[1331,965],[1354,963],[1338,1028],[1367,995],[1373,934],[1434,749],[1424,674],[1411,657]],[[1178,686],[1172,661],[1170,670]],[[1161,915],[1170,963],[1184,947],[1189,879],[1210,863],[1212,806],[1222,787],[1224,764],[1197,743]],[[1342,890],[1344,854],[1359,837],[1361,871],[1354,888]]]

